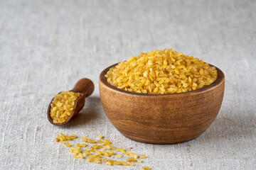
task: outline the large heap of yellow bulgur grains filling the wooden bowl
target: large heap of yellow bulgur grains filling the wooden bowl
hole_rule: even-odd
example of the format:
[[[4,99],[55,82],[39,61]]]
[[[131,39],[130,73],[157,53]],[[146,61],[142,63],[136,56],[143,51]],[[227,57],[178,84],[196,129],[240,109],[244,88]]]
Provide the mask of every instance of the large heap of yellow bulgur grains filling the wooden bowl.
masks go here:
[[[215,67],[175,50],[152,50],[132,55],[110,68],[107,82],[124,91],[175,94],[201,89],[218,77]]]

